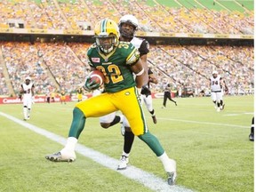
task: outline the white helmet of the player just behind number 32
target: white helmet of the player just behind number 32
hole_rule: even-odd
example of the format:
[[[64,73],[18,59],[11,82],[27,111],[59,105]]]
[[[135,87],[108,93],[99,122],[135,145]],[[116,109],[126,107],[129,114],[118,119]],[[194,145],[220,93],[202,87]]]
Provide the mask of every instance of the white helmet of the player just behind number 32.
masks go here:
[[[132,25],[133,30],[131,31],[131,30],[122,28],[122,25],[124,23]],[[123,17],[121,17],[121,19],[119,20],[118,27],[119,27],[119,32],[120,32],[121,36],[124,36],[126,38],[132,38],[134,36],[135,31],[139,27],[139,22],[133,15],[126,14]]]

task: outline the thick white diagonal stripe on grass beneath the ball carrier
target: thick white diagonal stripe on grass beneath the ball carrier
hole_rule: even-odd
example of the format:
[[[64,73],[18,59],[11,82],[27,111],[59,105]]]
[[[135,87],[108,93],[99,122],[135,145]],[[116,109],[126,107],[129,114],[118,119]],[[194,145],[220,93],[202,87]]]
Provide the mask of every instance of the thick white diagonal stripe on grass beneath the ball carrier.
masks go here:
[[[42,128],[39,128],[33,124],[28,124],[27,122],[24,122],[14,116],[9,116],[7,114],[4,114],[3,112],[0,112],[1,116],[4,116],[13,122],[22,125],[25,128],[28,128],[32,132],[36,132],[38,134],[43,135],[44,137],[56,141],[60,143],[61,145],[65,146],[66,144],[66,138],[61,137],[60,135],[54,134],[52,132],[48,132]],[[192,190],[188,188],[184,188],[182,186],[170,186],[167,184],[166,180],[163,180],[162,178],[156,177],[154,174],[145,172],[135,166],[130,165],[129,169],[122,170],[122,171],[117,171],[116,170],[116,165],[118,164],[118,160],[115,158],[106,156],[104,154],[101,154],[98,151],[93,150],[92,148],[87,148],[81,144],[76,145],[76,152],[81,154],[82,156],[88,157],[92,159],[94,162],[101,164],[105,167],[108,167],[109,169],[118,172],[124,177],[127,177],[131,180],[135,180],[142,184],[143,186],[146,186],[154,191],[163,191],[163,192],[192,192]],[[46,161],[46,160],[45,160]],[[164,168],[163,168],[164,170]]]

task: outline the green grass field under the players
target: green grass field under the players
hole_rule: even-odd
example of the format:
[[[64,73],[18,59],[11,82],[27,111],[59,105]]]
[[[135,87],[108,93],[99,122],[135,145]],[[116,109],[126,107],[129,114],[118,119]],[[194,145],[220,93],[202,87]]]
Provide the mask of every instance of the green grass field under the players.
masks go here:
[[[253,96],[224,100],[226,108],[217,113],[211,98],[177,99],[177,107],[167,102],[164,109],[156,99],[157,124],[145,110],[150,131],[177,161],[177,186],[202,192],[253,191],[254,143],[248,140]],[[74,105],[36,103],[27,123],[66,138]],[[78,153],[72,164],[48,162],[44,156],[63,146],[3,114],[22,120],[22,106],[0,106],[0,191],[152,191]],[[79,143],[118,159],[123,149],[120,124],[105,130],[98,118],[88,119]],[[138,138],[130,164],[165,180],[162,164]]]

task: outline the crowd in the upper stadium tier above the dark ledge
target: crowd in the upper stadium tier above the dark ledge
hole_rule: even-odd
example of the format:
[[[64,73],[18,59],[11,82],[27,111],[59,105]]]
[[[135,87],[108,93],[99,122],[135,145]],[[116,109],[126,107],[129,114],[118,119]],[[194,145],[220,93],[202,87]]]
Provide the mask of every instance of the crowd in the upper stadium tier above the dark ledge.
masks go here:
[[[14,0],[1,1],[0,9],[0,28],[9,28],[8,20],[21,20],[24,28],[92,29],[98,20],[118,21],[129,12],[140,20],[140,30],[147,32],[253,34],[254,28],[253,11],[246,9],[171,8],[146,1]]]

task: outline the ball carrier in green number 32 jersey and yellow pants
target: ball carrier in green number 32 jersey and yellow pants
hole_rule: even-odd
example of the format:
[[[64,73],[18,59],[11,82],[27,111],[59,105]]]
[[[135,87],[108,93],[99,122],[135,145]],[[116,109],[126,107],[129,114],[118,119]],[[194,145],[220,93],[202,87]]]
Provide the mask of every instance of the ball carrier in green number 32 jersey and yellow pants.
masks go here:
[[[114,20],[100,20],[94,29],[96,43],[87,52],[92,70],[100,70],[105,76],[105,92],[83,100],[73,110],[73,120],[64,148],[45,156],[53,162],[76,160],[76,143],[89,117],[99,117],[120,110],[131,124],[132,132],[143,140],[164,165],[168,183],[174,184],[176,162],[170,159],[156,136],[148,131],[146,118],[140,106],[140,89],[146,71],[142,67],[140,53],[130,42],[119,42],[119,32]],[[136,75],[134,80],[133,74]],[[86,78],[84,89],[94,90],[100,84]]]

